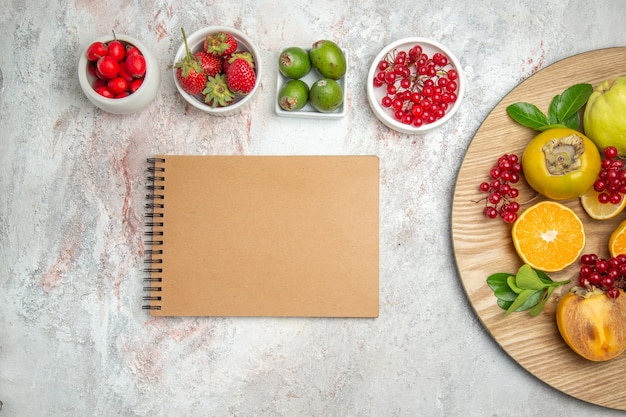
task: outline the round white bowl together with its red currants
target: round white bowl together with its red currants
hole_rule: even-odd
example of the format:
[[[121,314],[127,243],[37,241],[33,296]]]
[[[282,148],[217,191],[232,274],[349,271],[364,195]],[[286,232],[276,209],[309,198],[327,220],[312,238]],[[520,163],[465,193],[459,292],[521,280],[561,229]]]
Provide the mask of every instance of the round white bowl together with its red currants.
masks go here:
[[[464,91],[458,59],[440,43],[419,37],[383,48],[367,78],[374,114],[387,127],[406,134],[423,134],[450,120]]]

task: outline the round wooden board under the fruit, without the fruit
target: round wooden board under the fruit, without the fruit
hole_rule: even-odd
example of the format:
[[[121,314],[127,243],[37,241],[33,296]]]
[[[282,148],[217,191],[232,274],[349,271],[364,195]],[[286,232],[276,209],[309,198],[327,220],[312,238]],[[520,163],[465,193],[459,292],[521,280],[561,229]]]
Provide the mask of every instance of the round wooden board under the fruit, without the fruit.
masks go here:
[[[472,140],[459,170],[452,205],[452,240],[459,274],[476,314],[497,343],[523,368],[550,386],[580,400],[608,408],[626,410],[626,354],[608,362],[591,362],[575,354],[561,338],[555,319],[559,297],[568,286],[552,295],[538,317],[514,313],[503,317],[503,310],[486,284],[495,272],[515,273],[522,265],[511,240],[511,226],[482,215],[485,197],[478,185],[487,180],[489,169],[505,153],[518,156],[538,132],[515,123],[506,107],[529,102],[547,111],[555,95],[578,83],[594,87],[615,75],[626,75],[626,47],[607,48],[576,55],[532,75],[493,109]],[[524,199],[535,193],[518,183],[522,209]],[[534,200],[536,202],[538,200]],[[589,218],[578,200],[564,202],[583,220],[587,236],[584,253],[608,256],[611,231],[624,219],[595,221]],[[578,278],[579,264],[559,273],[555,281]]]

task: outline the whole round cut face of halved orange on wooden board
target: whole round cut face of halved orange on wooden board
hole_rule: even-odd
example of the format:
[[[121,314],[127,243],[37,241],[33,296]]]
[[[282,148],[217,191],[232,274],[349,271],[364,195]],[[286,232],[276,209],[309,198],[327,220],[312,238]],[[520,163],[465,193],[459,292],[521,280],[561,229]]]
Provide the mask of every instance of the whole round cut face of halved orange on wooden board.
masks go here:
[[[569,207],[540,201],[513,224],[513,244],[522,261],[545,272],[560,271],[578,259],[585,247],[585,230]]]

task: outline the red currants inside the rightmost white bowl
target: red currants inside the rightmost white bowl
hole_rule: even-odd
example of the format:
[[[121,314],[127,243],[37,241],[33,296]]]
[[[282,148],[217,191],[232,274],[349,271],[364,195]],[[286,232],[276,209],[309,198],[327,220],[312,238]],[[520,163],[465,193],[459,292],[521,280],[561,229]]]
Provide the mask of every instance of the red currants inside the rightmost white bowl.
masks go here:
[[[429,57],[420,45],[394,49],[378,63],[374,87],[386,88],[380,104],[406,125],[420,127],[441,119],[457,100],[459,73],[448,57]]]

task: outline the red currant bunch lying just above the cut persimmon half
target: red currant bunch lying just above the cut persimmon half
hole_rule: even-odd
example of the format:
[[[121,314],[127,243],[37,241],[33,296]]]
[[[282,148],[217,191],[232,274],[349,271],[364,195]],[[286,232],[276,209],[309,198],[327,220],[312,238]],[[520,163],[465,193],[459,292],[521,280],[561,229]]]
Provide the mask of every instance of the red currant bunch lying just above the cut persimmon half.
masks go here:
[[[626,290],[626,255],[609,259],[596,254],[580,257],[579,284],[587,289],[599,288],[609,297],[619,297],[619,290]]]

